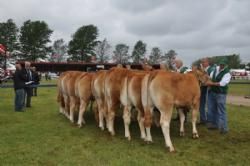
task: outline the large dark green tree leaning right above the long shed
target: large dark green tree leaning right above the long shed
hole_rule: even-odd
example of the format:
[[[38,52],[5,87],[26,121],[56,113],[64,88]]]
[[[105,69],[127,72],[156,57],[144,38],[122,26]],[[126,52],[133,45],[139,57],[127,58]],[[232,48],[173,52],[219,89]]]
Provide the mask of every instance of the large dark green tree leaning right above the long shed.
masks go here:
[[[94,25],[80,27],[72,36],[69,42],[68,53],[75,61],[88,62],[92,55],[95,55],[95,47],[98,44],[98,29]]]

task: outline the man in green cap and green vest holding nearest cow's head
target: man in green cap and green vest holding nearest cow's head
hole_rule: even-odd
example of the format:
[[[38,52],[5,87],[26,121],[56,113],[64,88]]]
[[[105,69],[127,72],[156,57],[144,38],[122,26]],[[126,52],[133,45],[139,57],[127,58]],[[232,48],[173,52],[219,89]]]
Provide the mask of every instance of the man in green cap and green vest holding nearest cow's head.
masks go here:
[[[219,62],[219,66],[210,74],[210,77],[212,81],[207,83],[207,86],[210,86],[207,128],[219,129],[221,134],[225,134],[228,132],[226,96],[231,75],[224,59]]]

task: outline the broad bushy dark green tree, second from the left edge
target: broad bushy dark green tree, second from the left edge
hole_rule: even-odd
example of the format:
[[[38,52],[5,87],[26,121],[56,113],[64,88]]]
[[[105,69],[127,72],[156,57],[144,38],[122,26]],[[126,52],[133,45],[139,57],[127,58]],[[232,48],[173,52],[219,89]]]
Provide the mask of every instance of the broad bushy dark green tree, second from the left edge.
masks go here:
[[[20,31],[22,57],[31,61],[46,58],[51,52],[47,44],[52,32],[44,21],[25,21]]]

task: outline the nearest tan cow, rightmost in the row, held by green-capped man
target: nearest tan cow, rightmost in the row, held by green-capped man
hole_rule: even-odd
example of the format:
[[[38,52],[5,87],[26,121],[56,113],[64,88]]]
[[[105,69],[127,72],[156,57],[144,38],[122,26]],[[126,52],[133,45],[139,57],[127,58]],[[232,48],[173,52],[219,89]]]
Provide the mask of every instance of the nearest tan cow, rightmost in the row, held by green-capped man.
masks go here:
[[[160,124],[166,146],[170,148],[170,152],[174,151],[169,131],[174,106],[177,108],[188,107],[192,110],[193,138],[199,137],[196,129],[200,102],[199,80],[202,82],[208,80],[208,76],[199,70],[188,74],[157,71],[144,77],[142,81],[142,104],[145,111],[147,141],[152,141],[150,126],[154,106],[161,113]]]

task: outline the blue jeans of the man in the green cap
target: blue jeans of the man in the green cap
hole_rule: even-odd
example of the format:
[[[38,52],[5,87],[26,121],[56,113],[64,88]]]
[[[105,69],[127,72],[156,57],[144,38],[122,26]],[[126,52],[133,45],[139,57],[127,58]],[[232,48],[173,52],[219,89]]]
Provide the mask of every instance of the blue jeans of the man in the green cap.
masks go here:
[[[209,92],[208,95],[208,119],[220,131],[227,132],[226,94]]]

